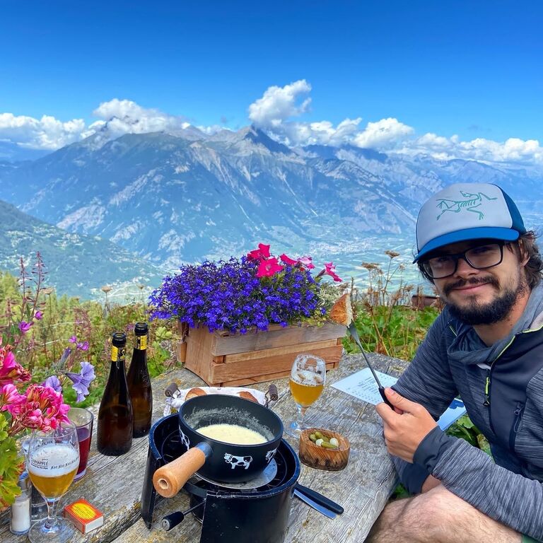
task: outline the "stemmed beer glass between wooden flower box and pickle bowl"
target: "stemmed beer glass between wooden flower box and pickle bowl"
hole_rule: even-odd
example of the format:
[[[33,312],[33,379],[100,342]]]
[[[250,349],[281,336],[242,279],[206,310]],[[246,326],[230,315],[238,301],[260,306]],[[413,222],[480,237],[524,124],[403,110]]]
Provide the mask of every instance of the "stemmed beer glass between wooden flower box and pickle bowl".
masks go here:
[[[303,417],[308,407],[320,396],[325,386],[326,363],[314,354],[298,354],[291,368],[288,385],[298,407],[298,420],[288,424],[285,431],[293,438],[299,437],[305,429]]]

